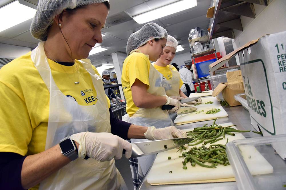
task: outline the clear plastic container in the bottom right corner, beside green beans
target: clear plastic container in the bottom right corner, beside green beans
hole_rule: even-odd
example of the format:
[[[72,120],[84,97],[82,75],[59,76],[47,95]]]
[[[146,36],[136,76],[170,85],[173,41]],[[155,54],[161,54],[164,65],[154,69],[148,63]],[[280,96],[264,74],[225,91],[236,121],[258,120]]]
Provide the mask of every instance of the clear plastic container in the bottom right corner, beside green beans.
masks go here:
[[[286,134],[227,143],[239,190],[286,189]]]

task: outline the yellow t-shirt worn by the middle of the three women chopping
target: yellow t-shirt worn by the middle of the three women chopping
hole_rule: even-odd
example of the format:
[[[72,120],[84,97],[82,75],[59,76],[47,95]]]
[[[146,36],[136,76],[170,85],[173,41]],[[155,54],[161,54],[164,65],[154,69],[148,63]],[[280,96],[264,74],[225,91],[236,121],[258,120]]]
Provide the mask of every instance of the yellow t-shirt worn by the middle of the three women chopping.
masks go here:
[[[129,116],[135,114],[135,112],[139,109],[133,102],[131,86],[137,78],[146,84],[147,89],[149,88],[150,64],[151,63],[148,55],[141,52],[133,52],[124,60],[121,82],[126,99],[126,112],[129,114]]]

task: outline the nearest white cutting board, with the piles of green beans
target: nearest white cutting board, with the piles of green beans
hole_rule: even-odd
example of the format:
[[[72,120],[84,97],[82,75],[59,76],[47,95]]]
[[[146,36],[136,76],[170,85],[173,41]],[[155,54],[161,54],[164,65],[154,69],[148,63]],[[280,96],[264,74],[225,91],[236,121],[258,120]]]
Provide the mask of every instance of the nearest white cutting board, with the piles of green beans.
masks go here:
[[[220,124],[221,126],[231,126],[232,123]],[[235,128],[235,127],[233,127]],[[190,131],[188,129],[186,131]],[[229,138],[229,141],[236,139],[245,138],[241,133],[235,133],[235,136],[225,135],[225,139],[216,142],[215,144],[225,144]],[[195,145],[196,147],[201,146],[202,143]],[[210,144],[206,144],[208,147]],[[193,146],[188,146],[190,149]],[[187,150],[188,150],[187,149]],[[178,183],[190,183],[191,181],[201,181],[201,180],[215,180],[215,179],[225,179],[235,177],[230,165],[218,165],[217,168],[206,168],[196,164],[195,167],[192,167],[190,162],[186,164],[188,169],[182,169],[183,158],[179,158],[179,155],[182,155],[182,152],[187,151],[178,149],[172,149],[165,152],[157,154],[157,157],[150,169],[150,172],[147,175],[147,182],[151,185],[158,184],[178,184]],[[253,175],[257,174],[267,174],[273,173],[273,167],[268,163],[268,161],[255,149],[255,147],[247,147],[242,150],[242,155],[246,158],[246,164],[249,168],[249,171]],[[172,159],[168,160],[168,157],[171,156]],[[251,159],[249,159],[251,158]],[[205,163],[206,164],[206,163]],[[173,173],[169,173],[172,171]],[[215,180],[217,181],[217,180]]]

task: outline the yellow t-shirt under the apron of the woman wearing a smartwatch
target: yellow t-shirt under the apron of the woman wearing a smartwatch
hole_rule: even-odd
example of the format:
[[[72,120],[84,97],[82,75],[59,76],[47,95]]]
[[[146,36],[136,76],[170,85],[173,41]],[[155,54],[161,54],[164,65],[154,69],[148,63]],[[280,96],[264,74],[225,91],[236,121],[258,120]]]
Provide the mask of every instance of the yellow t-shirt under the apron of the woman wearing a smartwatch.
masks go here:
[[[78,60],[73,66],[60,65],[51,60],[48,62],[58,88],[78,104],[90,106],[97,101],[109,102],[107,97],[107,100],[98,100],[92,78]],[[75,85],[78,78],[80,83]],[[24,156],[44,151],[49,91],[31,60],[31,52],[0,70],[0,100],[0,152]]]

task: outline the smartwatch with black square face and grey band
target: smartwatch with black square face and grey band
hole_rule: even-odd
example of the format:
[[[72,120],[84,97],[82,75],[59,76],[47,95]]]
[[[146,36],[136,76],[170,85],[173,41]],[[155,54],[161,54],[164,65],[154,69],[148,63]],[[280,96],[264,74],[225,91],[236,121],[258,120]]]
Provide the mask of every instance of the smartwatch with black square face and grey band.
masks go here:
[[[59,148],[61,149],[61,153],[70,160],[73,161],[78,158],[78,148],[76,147],[74,140],[69,136],[59,142]]]

